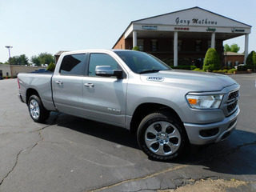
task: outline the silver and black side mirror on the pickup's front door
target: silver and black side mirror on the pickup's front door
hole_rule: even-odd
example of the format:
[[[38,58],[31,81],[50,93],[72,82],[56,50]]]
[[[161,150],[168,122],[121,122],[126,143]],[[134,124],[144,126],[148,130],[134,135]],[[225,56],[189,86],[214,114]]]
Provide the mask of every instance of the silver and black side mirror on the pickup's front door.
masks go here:
[[[122,78],[122,70],[113,70],[111,66],[96,66],[95,74],[102,77]]]

